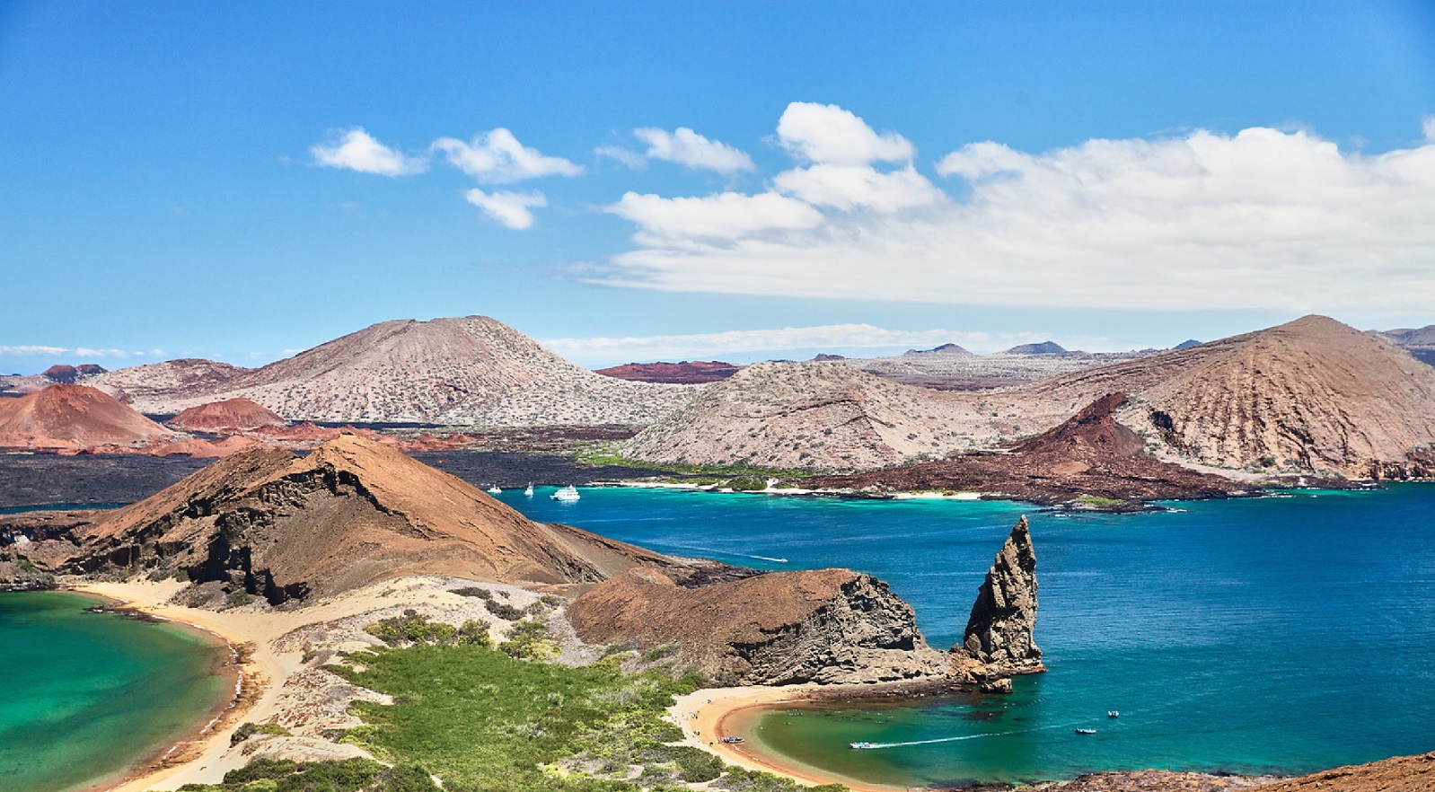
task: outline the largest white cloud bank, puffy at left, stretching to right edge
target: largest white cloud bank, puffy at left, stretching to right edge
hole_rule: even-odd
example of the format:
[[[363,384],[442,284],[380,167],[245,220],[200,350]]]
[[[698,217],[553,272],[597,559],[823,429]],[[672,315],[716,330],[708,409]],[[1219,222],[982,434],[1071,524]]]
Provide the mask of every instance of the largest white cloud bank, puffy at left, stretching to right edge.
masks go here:
[[[1435,304],[1435,141],[1369,156],[1264,128],[1045,154],[973,143],[937,165],[969,188],[953,201],[916,171],[872,171],[910,143],[839,108],[792,105],[779,136],[818,165],[758,195],[624,197],[611,211],[637,222],[639,248],[594,280],[1073,308],[1419,316]],[[752,211],[759,198],[791,201],[789,221]]]

